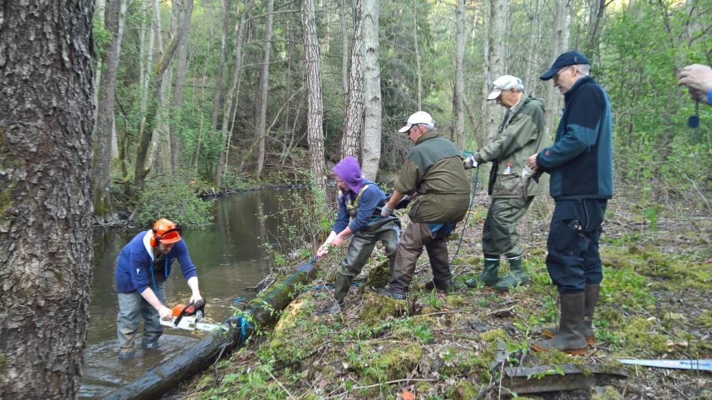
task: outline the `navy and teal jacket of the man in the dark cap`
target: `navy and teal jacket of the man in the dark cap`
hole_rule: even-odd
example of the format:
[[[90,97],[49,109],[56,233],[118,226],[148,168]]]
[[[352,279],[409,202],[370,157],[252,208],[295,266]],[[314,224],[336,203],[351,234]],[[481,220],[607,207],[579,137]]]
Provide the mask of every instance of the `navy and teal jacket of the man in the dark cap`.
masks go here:
[[[613,196],[611,104],[605,90],[585,76],[564,94],[554,144],[539,152],[539,169],[551,176],[554,200]]]

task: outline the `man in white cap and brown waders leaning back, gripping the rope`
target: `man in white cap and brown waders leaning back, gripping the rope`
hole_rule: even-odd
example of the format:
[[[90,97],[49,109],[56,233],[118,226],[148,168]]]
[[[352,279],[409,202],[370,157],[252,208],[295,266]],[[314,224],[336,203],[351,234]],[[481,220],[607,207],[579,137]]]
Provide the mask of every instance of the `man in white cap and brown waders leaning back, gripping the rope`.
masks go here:
[[[467,212],[470,184],[460,150],[438,135],[430,114],[424,111],[414,113],[399,132],[407,134],[414,146],[408,152],[395,181],[393,195],[383,206],[381,217],[391,216],[399,201],[408,195],[413,196],[408,214],[411,223],[398,245],[388,287],[378,288],[377,293],[403,300],[423,246],[428,251],[433,270],[433,280],[426,284],[426,289],[446,291],[451,288],[445,238]]]

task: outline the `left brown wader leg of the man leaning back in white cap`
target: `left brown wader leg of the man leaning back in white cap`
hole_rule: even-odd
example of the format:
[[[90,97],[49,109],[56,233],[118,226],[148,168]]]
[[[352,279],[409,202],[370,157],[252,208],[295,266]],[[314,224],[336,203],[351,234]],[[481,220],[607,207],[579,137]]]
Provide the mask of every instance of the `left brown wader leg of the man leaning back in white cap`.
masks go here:
[[[397,293],[407,293],[415,271],[415,264],[423,253],[424,239],[429,239],[430,228],[427,223],[412,222],[406,228],[398,245],[396,263],[389,286]]]

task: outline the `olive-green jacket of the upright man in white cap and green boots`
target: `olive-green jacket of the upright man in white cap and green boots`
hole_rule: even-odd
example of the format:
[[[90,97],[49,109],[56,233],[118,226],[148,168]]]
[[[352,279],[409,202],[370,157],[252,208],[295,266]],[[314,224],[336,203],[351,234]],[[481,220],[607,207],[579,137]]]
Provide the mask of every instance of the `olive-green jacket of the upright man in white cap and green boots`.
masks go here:
[[[505,113],[496,139],[482,147],[475,155],[478,164],[492,162],[488,194],[497,198],[516,197],[512,194],[512,189],[519,183],[527,159],[543,149],[544,143],[544,101],[530,95],[522,96],[521,100]],[[512,164],[511,175],[502,174],[507,164]],[[466,165],[466,168],[468,167]],[[547,184],[548,179],[530,179],[527,186],[528,196],[545,193]]]

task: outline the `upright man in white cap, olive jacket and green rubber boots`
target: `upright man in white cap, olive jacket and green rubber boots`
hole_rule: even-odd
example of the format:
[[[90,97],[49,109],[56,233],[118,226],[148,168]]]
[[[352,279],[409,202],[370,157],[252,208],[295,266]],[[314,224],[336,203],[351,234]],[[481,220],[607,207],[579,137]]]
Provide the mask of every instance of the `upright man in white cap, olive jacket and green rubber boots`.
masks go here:
[[[465,284],[470,288],[483,284],[508,290],[527,278],[517,226],[534,196],[546,187],[545,182],[528,179],[524,190],[516,191],[525,175],[533,174],[530,169],[525,170],[528,157],[544,147],[544,102],[525,96],[522,80],[512,75],[497,78],[487,100],[496,100],[507,111],[495,140],[466,159],[466,169],[486,162],[492,162],[492,169],[488,185],[491,203],[482,229],[484,269]],[[509,273],[503,278],[498,275],[501,256],[509,263]]]

